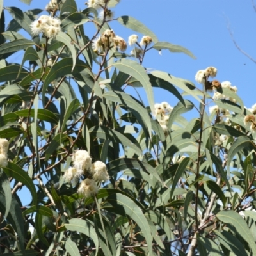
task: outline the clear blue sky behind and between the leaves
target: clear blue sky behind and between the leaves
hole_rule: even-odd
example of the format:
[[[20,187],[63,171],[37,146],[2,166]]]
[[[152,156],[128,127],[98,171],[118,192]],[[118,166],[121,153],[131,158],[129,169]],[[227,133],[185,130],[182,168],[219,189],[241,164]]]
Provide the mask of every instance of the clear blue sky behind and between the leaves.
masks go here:
[[[84,1],[76,1],[79,10],[86,8]],[[19,0],[4,0],[4,6],[16,6],[23,11],[44,9],[47,3],[47,0],[33,0],[28,6]],[[256,64],[237,50],[228,32],[230,26],[237,44],[256,59],[256,12],[251,0],[121,0],[114,10],[115,17],[132,16],[151,29],[159,41],[186,47],[196,56],[194,60],[167,50],[159,55],[152,49],[145,57],[144,67],[163,70],[196,83],[198,70],[214,66],[218,68],[216,79],[236,85],[237,94],[246,107],[256,103]],[[6,25],[10,19],[6,12]],[[86,33],[93,35],[93,27],[90,24],[84,26]],[[134,33],[118,22],[111,22],[110,26],[125,40]],[[128,47],[127,52],[131,50]],[[23,52],[8,61],[18,62],[17,56],[21,59]],[[200,88],[200,84],[196,85]],[[155,102],[177,104],[177,99],[164,90],[154,90],[154,93]]]

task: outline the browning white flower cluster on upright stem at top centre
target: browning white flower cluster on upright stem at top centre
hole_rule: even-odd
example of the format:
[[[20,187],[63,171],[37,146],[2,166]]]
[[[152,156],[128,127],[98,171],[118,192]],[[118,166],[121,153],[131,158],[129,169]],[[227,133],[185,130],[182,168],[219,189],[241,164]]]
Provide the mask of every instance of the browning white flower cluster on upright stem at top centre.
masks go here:
[[[101,36],[93,40],[92,47],[94,51],[98,52],[103,52],[111,47],[116,47],[119,51],[124,52],[127,44],[122,37],[116,36],[112,29],[106,29]]]

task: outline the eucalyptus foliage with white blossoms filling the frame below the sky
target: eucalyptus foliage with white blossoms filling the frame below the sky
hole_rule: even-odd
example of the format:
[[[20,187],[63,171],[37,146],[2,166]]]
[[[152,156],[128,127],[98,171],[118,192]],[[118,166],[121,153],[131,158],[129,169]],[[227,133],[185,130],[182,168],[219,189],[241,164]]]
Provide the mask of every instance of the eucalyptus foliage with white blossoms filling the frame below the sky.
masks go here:
[[[116,4],[88,1],[79,12],[74,0],[52,0],[61,22],[3,7],[1,253],[256,255],[256,107],[212,80],[214,67],[198,71],[199,86],[147,70],[148,51],[195,57],[113,17]],[[131,54],[113,22],[143,35],[129,38]],[[18,51],[22,60],[9,63]],[[128,86],[143,88],[148,106]],[[153,87],[177,105],[154,102]]]

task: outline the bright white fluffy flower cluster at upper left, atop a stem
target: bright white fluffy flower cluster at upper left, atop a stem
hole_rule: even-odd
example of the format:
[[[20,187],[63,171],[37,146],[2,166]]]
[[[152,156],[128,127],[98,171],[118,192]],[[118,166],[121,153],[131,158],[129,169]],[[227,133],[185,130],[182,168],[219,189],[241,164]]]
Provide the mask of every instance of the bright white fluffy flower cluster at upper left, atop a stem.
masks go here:
[[[42,15],[38,20],[33,21],[30,26],[33,35],[37,36],[43,33],[48,38],[54,38],[61,31],[60,24],[60,19]]]

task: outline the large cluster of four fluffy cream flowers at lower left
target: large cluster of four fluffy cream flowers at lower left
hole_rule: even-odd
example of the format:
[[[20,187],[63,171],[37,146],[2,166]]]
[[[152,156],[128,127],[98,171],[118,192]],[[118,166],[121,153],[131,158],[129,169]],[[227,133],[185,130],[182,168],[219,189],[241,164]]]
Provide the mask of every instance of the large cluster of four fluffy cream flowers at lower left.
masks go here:
[[[82,175],[89,175],[92,179],[86,178],[81,182],[77,193],[84,196],[92,196],[98,193],[99,188],[96,182],[109,180],[106,164],[96,161],[92,164],[92,158],[86,150],[77,150],[72,156],[73,166],[68,168],[64,177],[68,182],[77,182]]]

